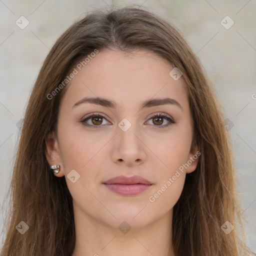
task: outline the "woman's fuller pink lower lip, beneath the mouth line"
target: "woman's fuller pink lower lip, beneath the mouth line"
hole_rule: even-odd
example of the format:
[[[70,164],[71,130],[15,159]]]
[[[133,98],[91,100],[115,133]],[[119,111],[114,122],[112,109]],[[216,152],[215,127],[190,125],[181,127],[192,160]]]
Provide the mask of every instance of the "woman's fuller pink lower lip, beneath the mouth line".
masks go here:
[[[136,195],[148,189],[151,184],[104,184],[111,191],[122,195]]]

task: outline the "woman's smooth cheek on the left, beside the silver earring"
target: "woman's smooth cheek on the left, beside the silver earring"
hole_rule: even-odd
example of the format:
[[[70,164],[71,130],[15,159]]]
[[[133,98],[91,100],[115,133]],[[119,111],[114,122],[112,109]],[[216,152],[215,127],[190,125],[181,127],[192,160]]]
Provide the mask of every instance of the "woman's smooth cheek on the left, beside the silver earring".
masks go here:
[[[59,133],[63,171],[74,200],[89,200],[91,195],[88,191],[95,189],[101,163],[107,155],[109,157],[109,152],[104,150],[109,138],[84,134],[71,126],[62,128]]]

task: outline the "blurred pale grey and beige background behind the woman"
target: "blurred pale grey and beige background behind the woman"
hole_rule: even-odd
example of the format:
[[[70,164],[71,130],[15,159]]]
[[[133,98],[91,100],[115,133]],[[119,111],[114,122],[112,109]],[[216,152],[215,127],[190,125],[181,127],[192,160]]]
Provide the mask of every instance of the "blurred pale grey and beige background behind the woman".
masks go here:
[[[22,117],[49,49],[87,12],[133,3],[168,18],[213,83],[232,137],[246,240],[256,250],[255,0],[0,0],[0,230]]]

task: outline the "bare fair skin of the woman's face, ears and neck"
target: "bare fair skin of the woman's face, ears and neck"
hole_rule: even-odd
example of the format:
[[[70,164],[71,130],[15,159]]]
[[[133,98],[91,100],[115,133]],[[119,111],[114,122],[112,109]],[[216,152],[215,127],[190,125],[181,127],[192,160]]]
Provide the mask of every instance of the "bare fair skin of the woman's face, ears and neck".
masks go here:
[[[180,172],[154,202],[149,201],[198,151],[192,143],[188,96],[182,78],[175,81],[169,75],[172,69],[172,64],[150,51],[104,50],[68,85],[60,102],[57,134],[47,137],[46,157],[50,165],[59,164],[60,171],[54,175],[65,176],[73,198],[76,242],[72,256],[168,255],[172,208],[185,174],[194,171],[198,161]],[[72,108],[85,96],[104,97],[119,107],[83,103]],[[142,101],[164,97],[175,99],[182,109],[165,104],[139,110]],[[86,123],[99,123],[99,128],[80,122],[92,112],[104,118]],[[175,123],[158,128],[168,121],[150,118],[156,113],[165,113]],[[126,131],[118,126],[123,118],[131,123]],[[74,183],[67,177],[72,169],[80,175]],[[117,175],[140,175],[153,185],[137,195],[119,195],[102,184]],[[126,233],[118,228],[123,221],[131,227]]]

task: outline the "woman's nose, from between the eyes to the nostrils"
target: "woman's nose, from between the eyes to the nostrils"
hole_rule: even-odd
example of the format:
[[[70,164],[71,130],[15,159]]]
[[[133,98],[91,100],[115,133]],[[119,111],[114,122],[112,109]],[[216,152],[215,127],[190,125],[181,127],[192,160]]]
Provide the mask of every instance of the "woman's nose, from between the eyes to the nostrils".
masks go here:
[[[139,165],[146,159],[146,146],[138,129],[132,124],[127,130],[117,127],[113,142],[112,161],[128,166]]]

